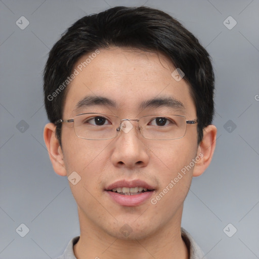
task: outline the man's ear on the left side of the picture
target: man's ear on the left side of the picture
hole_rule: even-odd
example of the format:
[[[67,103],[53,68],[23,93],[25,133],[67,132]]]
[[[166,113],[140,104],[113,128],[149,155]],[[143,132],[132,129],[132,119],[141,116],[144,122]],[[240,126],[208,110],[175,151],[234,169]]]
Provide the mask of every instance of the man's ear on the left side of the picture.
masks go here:
[[[44,128],[44,141],[47,146],[54,171],[59,176],[66,176],[67,172],[64,164],[63,152],[56,137],[56,126],[53,123],[46,124]]]

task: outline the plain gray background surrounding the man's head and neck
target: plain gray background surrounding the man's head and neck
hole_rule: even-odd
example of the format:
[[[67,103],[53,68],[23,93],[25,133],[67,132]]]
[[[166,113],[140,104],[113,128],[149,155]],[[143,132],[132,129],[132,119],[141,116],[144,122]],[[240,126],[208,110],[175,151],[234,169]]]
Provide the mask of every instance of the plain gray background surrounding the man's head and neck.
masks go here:
[[[258,0],[0,1],[0,258],[55,258],[79,234],[68,181],[53,171],[42,138],[42,69],[68,26],[118,5],[169,13],[212,56],[217,147],[204,175],[193,179],[182,226],[209,259],[259,258]],[[21,16],[29,21],[24,30],[16,25]],[[223,23],[229,16],[237,21],[232,29]],[[24,227],[16,231],[22,223],[25,237]],[[229,223],[225,233],[237,229],[232,237],[223,231]]]

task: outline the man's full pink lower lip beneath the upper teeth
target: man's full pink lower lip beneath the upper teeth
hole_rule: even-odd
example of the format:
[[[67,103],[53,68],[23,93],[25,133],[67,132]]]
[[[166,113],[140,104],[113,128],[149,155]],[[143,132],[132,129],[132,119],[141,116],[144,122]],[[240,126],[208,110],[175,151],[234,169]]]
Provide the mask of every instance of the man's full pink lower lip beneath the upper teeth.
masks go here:
[[[153,191],[143,192],[135,195],[123,195],[112,191],[106,191],[109,196],[121,206],[138,206],[150,199]]]

